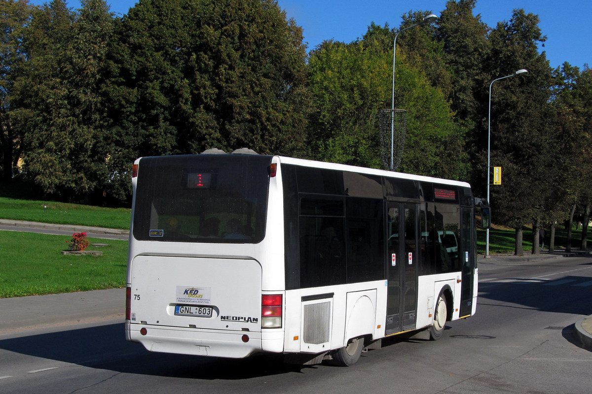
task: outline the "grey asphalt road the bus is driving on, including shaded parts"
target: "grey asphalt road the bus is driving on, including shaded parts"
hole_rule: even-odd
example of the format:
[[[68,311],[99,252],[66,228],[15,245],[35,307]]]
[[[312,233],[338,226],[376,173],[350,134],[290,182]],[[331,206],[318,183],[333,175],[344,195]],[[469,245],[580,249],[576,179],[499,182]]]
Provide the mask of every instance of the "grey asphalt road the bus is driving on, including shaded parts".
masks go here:
[[[474,317],[449,323],[436,342],[385,340],[351,367],[150,353],[124,340],[123,317],[107,314],[0,331],[0,392],[592,392],[592,352],[574,337],[575,321],[592,314],[592,258],[481,260],[479,270]],[[86,301],[57,302],[54,314]]]

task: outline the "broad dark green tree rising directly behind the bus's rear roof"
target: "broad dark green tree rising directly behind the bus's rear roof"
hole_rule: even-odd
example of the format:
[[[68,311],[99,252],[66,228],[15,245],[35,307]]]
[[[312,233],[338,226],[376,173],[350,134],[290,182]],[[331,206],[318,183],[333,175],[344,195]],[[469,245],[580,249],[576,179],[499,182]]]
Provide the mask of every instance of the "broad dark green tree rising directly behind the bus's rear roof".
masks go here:
[[[302,30],[272,0],[140,0],[111,53],[116,134],[133,155],[305,152]]]

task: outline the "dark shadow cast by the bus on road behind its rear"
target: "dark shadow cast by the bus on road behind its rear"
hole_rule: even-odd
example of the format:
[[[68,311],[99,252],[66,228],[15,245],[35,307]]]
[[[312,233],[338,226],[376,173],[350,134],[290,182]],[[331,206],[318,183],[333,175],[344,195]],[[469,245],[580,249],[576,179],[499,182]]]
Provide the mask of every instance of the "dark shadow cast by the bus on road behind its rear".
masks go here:
[[[237,360],[152,353],[125,340],[123,323],[0,340],[0,349],[115,372],[205,380],[250,379],[315,367],[284,364],[275,355]]]

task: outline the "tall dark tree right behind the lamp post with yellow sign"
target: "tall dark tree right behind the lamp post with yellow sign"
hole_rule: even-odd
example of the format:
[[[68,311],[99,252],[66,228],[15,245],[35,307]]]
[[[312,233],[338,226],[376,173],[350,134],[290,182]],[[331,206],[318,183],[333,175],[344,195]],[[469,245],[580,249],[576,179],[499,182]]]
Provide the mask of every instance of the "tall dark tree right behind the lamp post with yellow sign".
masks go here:
[[[516,9],[510,21],[498,23],[489,38],[489,65],[497,76],[529,70],[525,77],[504,80],[503,87],[494,85],[491,110],[495,119],[492,165],[504,168],[504,185],[492,189],[492,200],[501,223],[516,230],[517,255],[522,254],[523,227],[543,219],[549,176],[556,168],[555,137],[549,122],[554,117],[549,103],[553,80],[545,53],[538,53],[537,43],[545,41],[538,21],[536,15]],[[538,238],[533,243],[538,244]]]

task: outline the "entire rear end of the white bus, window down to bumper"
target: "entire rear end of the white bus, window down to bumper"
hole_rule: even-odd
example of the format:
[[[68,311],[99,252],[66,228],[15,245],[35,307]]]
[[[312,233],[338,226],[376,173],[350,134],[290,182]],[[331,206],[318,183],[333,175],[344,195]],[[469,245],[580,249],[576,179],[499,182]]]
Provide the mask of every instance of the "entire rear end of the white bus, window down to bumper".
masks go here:
[[[266,246],[274,238],[266,237],[271,164],[259,155],[136,161],[128,340],[204,356],[282,351],[283,287],[266,288],[262,275],[273,256]]]

